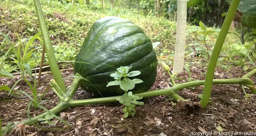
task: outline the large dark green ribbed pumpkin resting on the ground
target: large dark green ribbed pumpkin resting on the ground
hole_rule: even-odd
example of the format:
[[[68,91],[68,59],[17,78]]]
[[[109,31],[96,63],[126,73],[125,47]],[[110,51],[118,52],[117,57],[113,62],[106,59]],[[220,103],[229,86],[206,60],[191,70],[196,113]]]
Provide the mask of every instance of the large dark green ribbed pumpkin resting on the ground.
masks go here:
[[[141,72],[136,77],[130,77],[144,81],[135,85],[131,90],[134,93],[150,89],[156,79],[157,58],[150,39],[131,21],[116,17],[105,17],[93,24],[76,62],[97,66],[84,63],[75,63],[74,66],[74,73],[93,83],[83,80],[80,86],[96,95],[99,91],[102,96],[124,94],[119,86],[106,87],[108,82],[114,81],[110,74],[120,66],[129,66],[132,67],[130,71]]]

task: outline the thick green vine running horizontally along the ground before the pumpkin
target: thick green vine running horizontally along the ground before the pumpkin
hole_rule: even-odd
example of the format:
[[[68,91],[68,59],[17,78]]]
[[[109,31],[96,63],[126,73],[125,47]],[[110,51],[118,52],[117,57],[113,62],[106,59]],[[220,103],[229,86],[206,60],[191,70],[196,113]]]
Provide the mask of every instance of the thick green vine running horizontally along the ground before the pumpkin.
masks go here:
[[[79,76],[79,74],[77,74],[76,76]],[[58,114],[63,109],[66,109],[66,108],[71,107],[71,106],[82,106],[82,105],[88,105],[88,104],[100,104],[100,103],[117,102],[116,99],[118,97],[121,97],[121,96],[114,96],[114,97],[94,98],[94,99],[85,99],[85,100],[72,100],[72,99],[70,99],[70,98],[73,98],[73,96],[71,96],[71,95],[74,95],[74,91],[77,90],[77,88],[79,87],[79,82],[81,80],[82,80],[81,78],[74,78],[74,80],[72,82],[72,85],[70,87],[71,89],[66,94],[66,98],[64,98],[63,101],[60,100],[59,103],[49,111],[51,111],[54,114]],[[177,92],[179,90],[184,89],[184,88],[188,88],[188,87],[203,85],[204,83],[205,83],[204,80],[187,82],[187,83],[182,83],[182,84],[175,85],[175,86],[167,88],[167,89],[140,92],[140,93],[137,93],[136,95],[137,96],[142,96],[143,98],[152,97],[152,96],[159,96],[159,95],[169,95],[172,98],[174,98],[174,101],[176,101],[176,102],[178,102],[179,100],[185,101],[184,98],[182,98],[181,96],[179,96],[177,94]],[[240,85],[244,84],[245,86],[247,86],[251,90],[255,89],[253,81],[249,78],[214,79],[213,84],[240,84]],[[256,92],[253,92],[253,93],[256,94]],[[45,112],[43,114],[40,114],[40,115],[38,115],[34,118],[31,118],[32,122],[28,119],[28,120],[19,122],[18,124],[24,123],[24,124],[27,124],[27,125],[33,125],[34,123],[39,122],[37,120],[38,118],[42,118],[46,114],[47,114],[47,112]],[[11,125],[9,127],[3,127],[2,130],[5,131],[6,129],[8,129],[7,131],[10,132],[18,124]]]

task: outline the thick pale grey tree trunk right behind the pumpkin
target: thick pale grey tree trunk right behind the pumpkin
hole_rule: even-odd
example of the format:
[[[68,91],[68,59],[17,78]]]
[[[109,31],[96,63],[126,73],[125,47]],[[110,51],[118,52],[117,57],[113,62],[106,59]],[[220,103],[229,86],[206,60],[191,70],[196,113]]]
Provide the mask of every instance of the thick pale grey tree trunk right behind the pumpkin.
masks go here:
[[[176,44],[174,54],[173,73],[183,71],[184,54],[186,45],[186,21],[187,21],[187,1],[178,0],[177,2],[177,29]]]

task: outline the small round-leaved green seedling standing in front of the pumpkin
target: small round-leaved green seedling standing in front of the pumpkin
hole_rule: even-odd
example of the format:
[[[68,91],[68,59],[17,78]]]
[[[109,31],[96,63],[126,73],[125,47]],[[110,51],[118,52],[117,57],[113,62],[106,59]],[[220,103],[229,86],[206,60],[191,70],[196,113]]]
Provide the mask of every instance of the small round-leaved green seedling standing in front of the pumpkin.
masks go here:
[[[133,79],[130,80],[128,77],[135,77],[139,74],[141,74],[140,71],[131,71],[129,72],[129,69],[131,67],[128,66],[121,66],[117,68],[115,73],[110,74],[110,77],[113,77],[115,81],[111,81],[106,85],[106,87],[113,86],[113,85],[120,85],[120,88],[125,91],[125,94],[121,96],[120,98],[116,99],[121,104],[125,105],[126,107],[123,108],[124,118],[127,118],[128,116],[134,116],[135,114],[135,106],[136,105],[144,105],[144,102],[139,102],[137,100],[142,99],[143,97],[132,95],[132,92],[128,90],[131,90],[135,87],[135,84],[142,83],[143,81],[140,79]],[[129,73],[128,73],[129,72]]]

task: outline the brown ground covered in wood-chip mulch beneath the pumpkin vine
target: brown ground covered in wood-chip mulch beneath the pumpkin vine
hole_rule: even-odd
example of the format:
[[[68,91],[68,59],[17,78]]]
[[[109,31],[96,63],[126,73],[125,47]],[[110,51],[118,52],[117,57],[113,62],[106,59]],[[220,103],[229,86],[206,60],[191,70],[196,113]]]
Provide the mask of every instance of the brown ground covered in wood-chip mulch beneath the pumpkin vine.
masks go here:
[[[152,90],[171,86],[168,75],[158,66],[158,74]],[[204,79],[205,69],[192,66],[190,68],[194,80]],[[239,67],[233,67],[227,72],[217,69],[215,78],[238,78],[245,74]],[[64,77],[73,75],[73,71],[62,72]],[[178,83],[187,82],[187,71],[176,77]],[[41,87],[42,93],[52,79],[51,74],[44,75]],[[256,83],[256,77],[251,78]],[[67,86],[71,79],[66,80]],[[2,79],[0,85],[12,86],[15,81]],[[22,89],[28,93],[30,90],[25,83],[18,84],[16,89]],[[199,101],[198,94],[202,93],[203,86],[183,89],[179,95],[190,99],[187,103],[172,103],[166,101],[167,96],[144,98],[144,106],[137,106],[135,117],[123,119],[122,108],[119,103],[93,104],[79,107],[70,107],[60,113],[60,117],[67,120],[73,126],[65,128],[63,123],[58,122],[55,128],[60,130],[41,130],[29,127],[29,132],[42,136],[180,136],[191,135],[192,132],[217,131],[221,126],[224,132],[256,131],[256,96],[251,100],[243,98],[240,85],[213,85],[212,103],[207,108],[200,108],[196,103]],[[247,90],[248,91],[248,90]],[[31,94],[31,93],[30,93]],[[92,98],[91,94],[79,89],[75,99]],[[6,92],[0,92],[0,116],[3,124],[12,121],[18,123],[27,119],[28,98],[8,96]],[[53,90],[49,90],[43,99],[48,99],[43,105],[51,109],[57,104],[58,98]],[[30,116],[42,113],[41,109],[30,110]],[[47,127],[46,125],[44,127]],[[64,129],[63,129],[64,128]],[[52,128],[51,128],[52,129]],[[27,132],[27,134],[29,133]],[[15,135],[15,131],[9,135]]]

